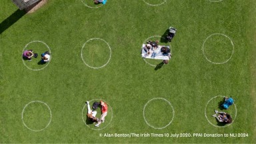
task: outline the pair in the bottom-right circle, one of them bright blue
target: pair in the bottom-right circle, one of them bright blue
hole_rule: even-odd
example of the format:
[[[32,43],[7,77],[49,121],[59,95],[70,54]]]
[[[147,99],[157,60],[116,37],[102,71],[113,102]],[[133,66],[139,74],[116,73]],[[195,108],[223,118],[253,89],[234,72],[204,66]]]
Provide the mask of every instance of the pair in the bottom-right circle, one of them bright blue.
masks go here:
[[[225,102],[223,105],[221,105],[223,108],[228,109],[230,105],[233,104],[233,99],[231,97],[225,97]],[[214,110],[215,114],[213,117],[217,119],[220,123],[232,123],[232,117],[228,113],[220,112],[217,110]]]

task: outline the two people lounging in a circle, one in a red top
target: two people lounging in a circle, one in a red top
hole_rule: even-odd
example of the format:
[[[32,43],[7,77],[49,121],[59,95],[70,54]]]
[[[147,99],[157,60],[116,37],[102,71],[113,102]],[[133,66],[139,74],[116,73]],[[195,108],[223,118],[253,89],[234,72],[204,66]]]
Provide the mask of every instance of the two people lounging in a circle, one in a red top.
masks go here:
[[[107,103],[105,103],[104,101],[99,101],[99,103],[97,101],[95,101],[93,103],[93,107],[91,109],[90,105],[89,105],[89,101],[86,101],[87,103],[87,117],[90,121],[92,121],[93,123],[96,123],[94,126],[95,127],[99,127],[99,125],[101,123],[104,123],[105,121],[105,117],[107,116]],[[98,119],[96,117],[97,115],[97,108],[101,107],[101,117]]]

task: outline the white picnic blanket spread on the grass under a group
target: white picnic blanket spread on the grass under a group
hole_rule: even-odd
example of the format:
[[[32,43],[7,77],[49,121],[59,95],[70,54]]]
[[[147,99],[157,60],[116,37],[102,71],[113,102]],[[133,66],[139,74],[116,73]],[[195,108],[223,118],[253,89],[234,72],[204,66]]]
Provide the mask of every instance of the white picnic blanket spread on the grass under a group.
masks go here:
[[[163,59],[163,60],[169,60],[171,59],[171,53],[169,53],[169,56],[164,56],[161,53],[161,47],[168,47],[170,49],[169,46],[164,46],[164,45],[158,45],[157,49],[152,48],[150,53],[148,54],[143,47],[145,47],[145,44],[142,45],[142,49],[141,49],[141,57],[143,58],[147,58],[147,59]],[[153,53],[155,53],[155,57],[153,57]]]

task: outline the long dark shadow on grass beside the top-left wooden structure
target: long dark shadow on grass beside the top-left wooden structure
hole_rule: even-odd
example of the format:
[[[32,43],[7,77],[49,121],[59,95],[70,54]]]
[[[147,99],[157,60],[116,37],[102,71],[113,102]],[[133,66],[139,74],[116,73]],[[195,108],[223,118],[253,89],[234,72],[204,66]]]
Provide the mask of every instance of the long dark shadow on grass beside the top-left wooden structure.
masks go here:
[[[4,21],[0,23],[0,35],[5,30],[9,29],[11,25],[19,21],[23,15],[25,15],[27,12],[25,10],[19,10],[17,9],[13,14],[11,14],[9,17],[7,17]]]

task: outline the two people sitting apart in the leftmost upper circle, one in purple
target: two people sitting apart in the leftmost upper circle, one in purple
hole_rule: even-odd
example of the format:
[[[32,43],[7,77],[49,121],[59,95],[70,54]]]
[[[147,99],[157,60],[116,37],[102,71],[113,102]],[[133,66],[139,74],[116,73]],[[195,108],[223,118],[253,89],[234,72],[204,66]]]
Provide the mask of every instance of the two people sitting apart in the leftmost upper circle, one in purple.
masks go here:
[[[32,57],[37,58],[37,53],[33,53],[33,50],[25,50],[23,51],[23,58],[27,59],[28,61],[32,61]],[[41,63],[46,63],[50,61],[51,55],[48,51],[45,51],[45,53],[41,54]]]

